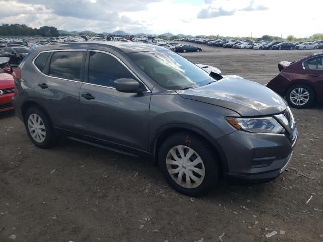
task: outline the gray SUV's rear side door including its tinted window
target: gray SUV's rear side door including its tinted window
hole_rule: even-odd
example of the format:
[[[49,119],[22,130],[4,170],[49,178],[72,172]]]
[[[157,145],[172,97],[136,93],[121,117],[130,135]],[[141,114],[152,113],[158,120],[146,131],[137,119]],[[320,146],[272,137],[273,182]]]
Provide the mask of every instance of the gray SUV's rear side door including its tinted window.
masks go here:
[[[57,128],[79,131],[79,93],[85,56],[86,50],[60,50],[40,53],[34,59],[41,73],[34,90]],[[42,61],[46,63],[44,66]]]

